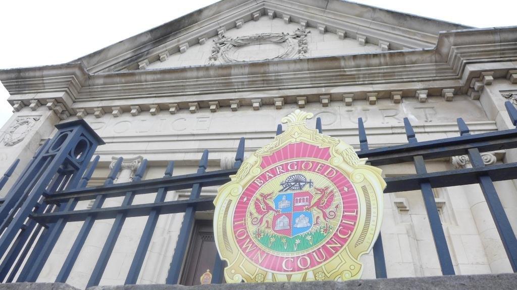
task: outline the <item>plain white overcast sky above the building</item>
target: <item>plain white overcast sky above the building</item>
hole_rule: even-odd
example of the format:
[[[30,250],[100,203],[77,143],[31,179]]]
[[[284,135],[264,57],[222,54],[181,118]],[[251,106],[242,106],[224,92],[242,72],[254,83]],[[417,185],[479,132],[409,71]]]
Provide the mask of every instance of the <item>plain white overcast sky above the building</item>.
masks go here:
[[[139,34],[214,0],[1,1],[0,69],[54,65]],[[517,25],[514,0],[358,0],[474,27]],[[0,83],[0,126],[11,115]]]

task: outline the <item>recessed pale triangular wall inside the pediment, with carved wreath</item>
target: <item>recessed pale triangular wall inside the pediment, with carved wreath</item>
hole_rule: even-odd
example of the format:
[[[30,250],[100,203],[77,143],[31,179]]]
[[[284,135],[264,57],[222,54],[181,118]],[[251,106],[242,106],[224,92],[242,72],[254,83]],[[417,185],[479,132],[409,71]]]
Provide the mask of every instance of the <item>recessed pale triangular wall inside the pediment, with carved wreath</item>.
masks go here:
[[[361,39],[346,37],[340,31],[327,33],[281,18],[262,16],[257,21],[244,21],[238,28],[220,30],[220,35],[200,43],[180,47],[180,52],[166,54],[150,62],[145,69],[177,68],[228,64],[242,61],[264,61],[343,54],[361,54],[383,51]],[[386,44],[384,50],[389,50]]]

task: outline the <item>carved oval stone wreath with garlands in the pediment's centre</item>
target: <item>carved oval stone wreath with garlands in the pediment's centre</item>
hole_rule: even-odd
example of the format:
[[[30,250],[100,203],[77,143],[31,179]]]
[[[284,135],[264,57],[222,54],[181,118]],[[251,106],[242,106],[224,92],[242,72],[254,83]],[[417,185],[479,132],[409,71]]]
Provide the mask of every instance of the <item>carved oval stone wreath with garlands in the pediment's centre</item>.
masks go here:
[[[305,57],[308,52],[307,34],[310,31],[305,28],[297,28],[293,33],[261,33],[241,37],[225,37],[219,35],[218,40],[214,40],[209,63],[231,63],[251,60],[271,60],[282,58]],[[242,58],[241,54],[246,47],[251,45],[270,45],[276,46],[279,53],[266,55],[255,59]],[[274,49],[271,51],[275,51]]]

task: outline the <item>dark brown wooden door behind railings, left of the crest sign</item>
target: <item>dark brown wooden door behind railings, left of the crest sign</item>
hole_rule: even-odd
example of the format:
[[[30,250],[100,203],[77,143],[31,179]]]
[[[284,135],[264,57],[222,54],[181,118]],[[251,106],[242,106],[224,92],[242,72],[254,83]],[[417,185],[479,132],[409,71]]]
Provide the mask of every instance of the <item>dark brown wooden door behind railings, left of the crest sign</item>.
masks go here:
[[[196,220],[192,231],[190,246],[181,275],[182,285],[201,284],[201,276],[214,270],[217,248],[214,240],[214,228],[211,220]]]

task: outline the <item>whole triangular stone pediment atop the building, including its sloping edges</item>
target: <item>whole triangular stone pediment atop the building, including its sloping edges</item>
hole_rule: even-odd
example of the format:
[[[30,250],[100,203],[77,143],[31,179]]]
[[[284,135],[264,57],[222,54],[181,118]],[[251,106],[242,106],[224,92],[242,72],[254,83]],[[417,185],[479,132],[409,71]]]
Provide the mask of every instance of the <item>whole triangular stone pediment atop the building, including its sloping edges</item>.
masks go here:
[[[465,28],[340,0],[223,0],[79,60],[96,73],[381,53]]]

